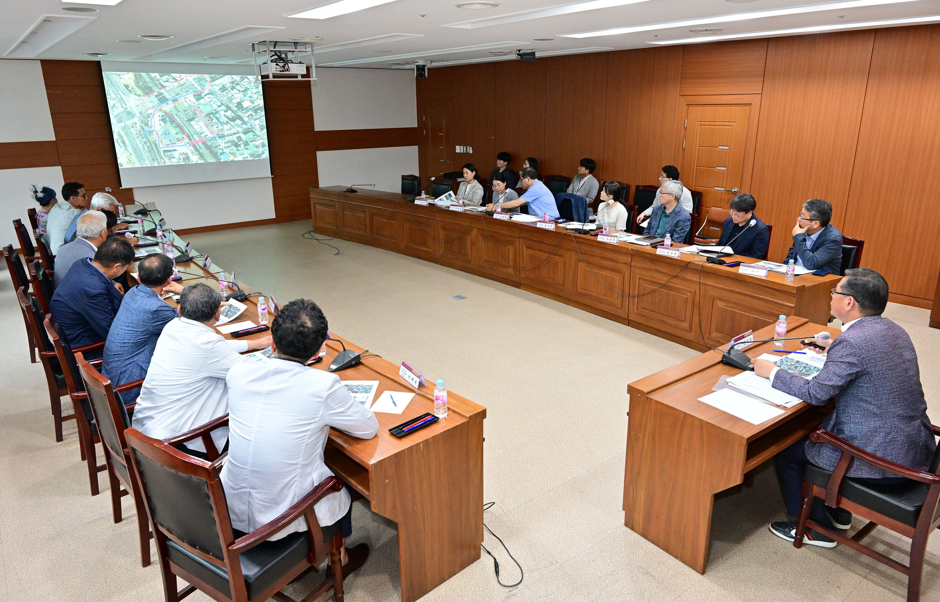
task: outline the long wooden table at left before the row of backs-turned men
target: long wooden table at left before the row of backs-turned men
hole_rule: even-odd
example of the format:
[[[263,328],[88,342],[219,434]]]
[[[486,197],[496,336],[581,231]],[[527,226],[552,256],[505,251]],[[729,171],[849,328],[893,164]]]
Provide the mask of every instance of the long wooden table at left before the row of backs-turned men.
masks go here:
[[[130,206],[129,211],[135,207]],[[169,232],[179,251],[185,245]],[[219,288],[213,274],[224,271],[214,263],[206,269],[199,259],[180,263],[183,286],[203,283]],[[136,261],[129,276],[136,280]],[[227,272],[230,275],[230,272]],[[195,274],[195,275],[194,275]],[[136,284],[135,282],[132,283]],[[239,283],[246,294],[258,293]],[[243,301],[247,307],[232,322],[258,324],[257,296]],[[172,298],[165,300],[176,307]],[[286,301],[286,300],[281,300]],[[269,318],[269,326],[274,316]],[[244,337],[257,339],[268,332]],[[346,348],[364,350],[332,335]],[[223,335],[232,339],[230,334]],[[311,369],[326,370],[342,350],[337,341],[327,341],[326,355]],[[450,579],[480,555],[483,541],[483,420],[486,408],[447,392],[447,417],[402,439],[389,434],[397,424],[434,408],[435,380],[415,390],[399,376],[399,366],[379,357],[368,357],[357,366],[337,372],[341,380],[378,380],[374,399],[384,391],[415,393],[401,414],[376,412],[379,433],[369,440],[357,439],[330,429],[324,460],[331,471],[366,498],[372,512],[398,524],[399,575],[402,602],[413,602]]]

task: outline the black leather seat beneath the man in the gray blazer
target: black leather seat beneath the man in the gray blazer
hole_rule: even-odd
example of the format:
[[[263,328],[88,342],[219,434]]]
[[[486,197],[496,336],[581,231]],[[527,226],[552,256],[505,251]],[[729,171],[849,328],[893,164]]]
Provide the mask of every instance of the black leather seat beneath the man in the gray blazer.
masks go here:
[[[855,460],[856,462],[858,460]],[[807,466],[803,478],[813,485],[824,487],[829,482],[831,471],[817,466]],[[928,485],[919,481],[909,481],[899,485],[876,485],[860,479],[846,477],[842,480],[843,498],[870,508],[885,517],[911,526],[917,526],[917,517],[927,497]],[[940,507],[937,509],[940,514]]]

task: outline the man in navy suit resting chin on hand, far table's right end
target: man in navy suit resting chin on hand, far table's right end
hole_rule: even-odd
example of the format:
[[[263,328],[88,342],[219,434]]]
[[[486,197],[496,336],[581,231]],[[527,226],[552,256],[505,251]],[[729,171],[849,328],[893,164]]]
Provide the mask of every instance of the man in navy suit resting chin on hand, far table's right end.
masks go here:
[[[832,205],[821,198],[811,198],[803,204],[793,228],[793,246],[787,254],[797,266],[807,270],[826,270],[831,274],[842,271],[842,233],[829,224]]]

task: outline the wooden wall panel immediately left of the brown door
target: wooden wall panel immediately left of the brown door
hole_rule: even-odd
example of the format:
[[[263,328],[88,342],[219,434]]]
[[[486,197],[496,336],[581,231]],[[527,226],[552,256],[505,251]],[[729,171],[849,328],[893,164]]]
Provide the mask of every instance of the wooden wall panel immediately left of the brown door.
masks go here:
[[[678,46],[607,53],[605,179],[655,185],[673,162],[681,69]]]

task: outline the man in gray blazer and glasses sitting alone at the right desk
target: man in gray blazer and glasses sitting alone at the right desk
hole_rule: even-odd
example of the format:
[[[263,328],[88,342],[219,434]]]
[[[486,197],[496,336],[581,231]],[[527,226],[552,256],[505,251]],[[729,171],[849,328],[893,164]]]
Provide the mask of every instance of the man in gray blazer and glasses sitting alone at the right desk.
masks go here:
[[[936,443],[927,402],[920,385],[917,351],[907,332],[882,317],[888,286],[875,270],[847,270],[832,291],[832,315],[842,320],[842,333],[828,347],[823,369],[811,380],[793,375],[767,360],[756,360],[754,371],[770,378],[775,389],[835,409],[821,427],[870,454],[919,471],[930,468]],[[807,348],[808,350],[808,348]],[[777,479],[791,515],[803,501],[803,472],[812,463],[826,471],[836,468],[840,452],[826,443],[799,440],[774,458]],[[879,485],[907,481],[864,462],[853,462],[846,476]],[[813,500],[809,517],[819,524],[848,529],[852,514]],[[771,533],[793,541],[796,521],[773,522]],[[807,530],[804,543],[834,548],[835,540]]]

